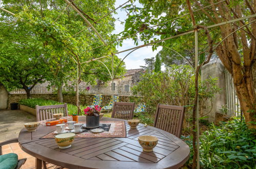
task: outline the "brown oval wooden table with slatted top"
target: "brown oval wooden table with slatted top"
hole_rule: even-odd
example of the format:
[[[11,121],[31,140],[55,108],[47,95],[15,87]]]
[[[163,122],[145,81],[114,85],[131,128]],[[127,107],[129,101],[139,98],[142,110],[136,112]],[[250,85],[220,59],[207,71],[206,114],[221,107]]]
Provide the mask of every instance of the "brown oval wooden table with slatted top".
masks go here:
[[[71,117],[65,117],[71,120]],[[101,121],[113,121],[103,117]],[[79,121],[85,121],[80,116]],[[124,120],[123,120],[124,121]],[[18,137],[21,149],[36,157],[36,168],[42,160],[66,168],[179,168],[189,158],[189,146],[180,138],[152,126],[139,124],[130,129],[125,121],[126,138],[75,138],[69,149],[58,149],[54,139],[42,137],[56,130],[41,121],[35,132],[24,128]],[[137,138],[151,135],[159,138],[153,152],[144,152]]]

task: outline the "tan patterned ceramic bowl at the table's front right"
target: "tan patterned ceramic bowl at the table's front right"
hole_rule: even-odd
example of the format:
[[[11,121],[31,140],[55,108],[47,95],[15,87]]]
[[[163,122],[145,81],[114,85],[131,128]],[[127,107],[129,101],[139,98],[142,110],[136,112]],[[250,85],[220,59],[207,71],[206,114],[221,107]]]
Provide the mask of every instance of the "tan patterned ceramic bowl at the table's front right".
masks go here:
[[[158,138],[154,136],[140,136],[138,140],[145,152],[152,152],[158,142]]]

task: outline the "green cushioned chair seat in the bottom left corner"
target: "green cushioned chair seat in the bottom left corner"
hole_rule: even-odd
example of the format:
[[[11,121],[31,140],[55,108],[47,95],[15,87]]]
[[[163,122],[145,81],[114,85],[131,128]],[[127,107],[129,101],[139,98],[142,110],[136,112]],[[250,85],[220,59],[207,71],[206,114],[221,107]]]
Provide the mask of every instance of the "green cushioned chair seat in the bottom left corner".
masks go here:
[[[9,153],[0,156],[0,169],[14,169],[18,163],[18,156]]]

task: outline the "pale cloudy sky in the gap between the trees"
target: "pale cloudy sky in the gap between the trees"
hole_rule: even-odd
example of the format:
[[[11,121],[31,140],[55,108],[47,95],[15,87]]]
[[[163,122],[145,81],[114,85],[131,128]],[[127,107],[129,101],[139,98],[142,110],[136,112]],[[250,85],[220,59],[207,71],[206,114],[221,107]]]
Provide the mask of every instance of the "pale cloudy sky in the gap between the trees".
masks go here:
[[[119,7],[120,5],[124,4],[125,2],[127,2],[127,0],[116,0],[115,8]],[[130,3],[127,3],[127,4],[130,4]],[[139,3],[135,3],[134,5],[136,5],[138,7],[141,6]],[[125,19],[127,18],[127,13],[124,10],[121,10],[121,8],[116,10],[116,12],[117,12],[117,14],[113,15],[113,17],[119,18],[119,20],[124,22]],[[122,32],[123,30],[124,30],[124,25],[122,25],[121,22],[116,20],[115,21],[115,31],[113,33],[118,34],[118,33]],[[134,42],[132,39],[124,40],[122,45],[123,46],[118,47],[117,50],[122,51],[122,50],[126,50],[126,49],[133,48],[136,46],[136,45],[134,45]],[[139,43],[139,45],[143,45],[143,43]],[[162,47],[159,47],[159,48],[157,48],[157,50],[155,50],[153,52],[151,46],[149,46],[149,47],[144,47],[144,48],[135,50],[130,55],[128,55],[124,60],[126,69],[139,69],[140,66],[145,66],[144,59],[155,57],[155,55],[161,49],[162,49]],[[129,52],[131,52],[131,51],[120,53],[117,56],[119,58],[123,59]]]

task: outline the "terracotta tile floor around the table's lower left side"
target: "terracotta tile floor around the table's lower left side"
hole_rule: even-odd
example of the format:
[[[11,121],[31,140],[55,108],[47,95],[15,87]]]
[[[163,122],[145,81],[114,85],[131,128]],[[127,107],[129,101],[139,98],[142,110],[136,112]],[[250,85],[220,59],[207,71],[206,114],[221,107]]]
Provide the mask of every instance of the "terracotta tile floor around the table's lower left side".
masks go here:
[[[22,165],[22,169],[32,169],[35,168],[35,157],[30,156],[29,154],[25,153],[21,150],[18,143],[11,143],[2,146],[3,154],[8,153],[16,153],[18,155],[18,159],[27,158],[25,164]],[[56,165],[47,164],[47,168],[53,169]]]

